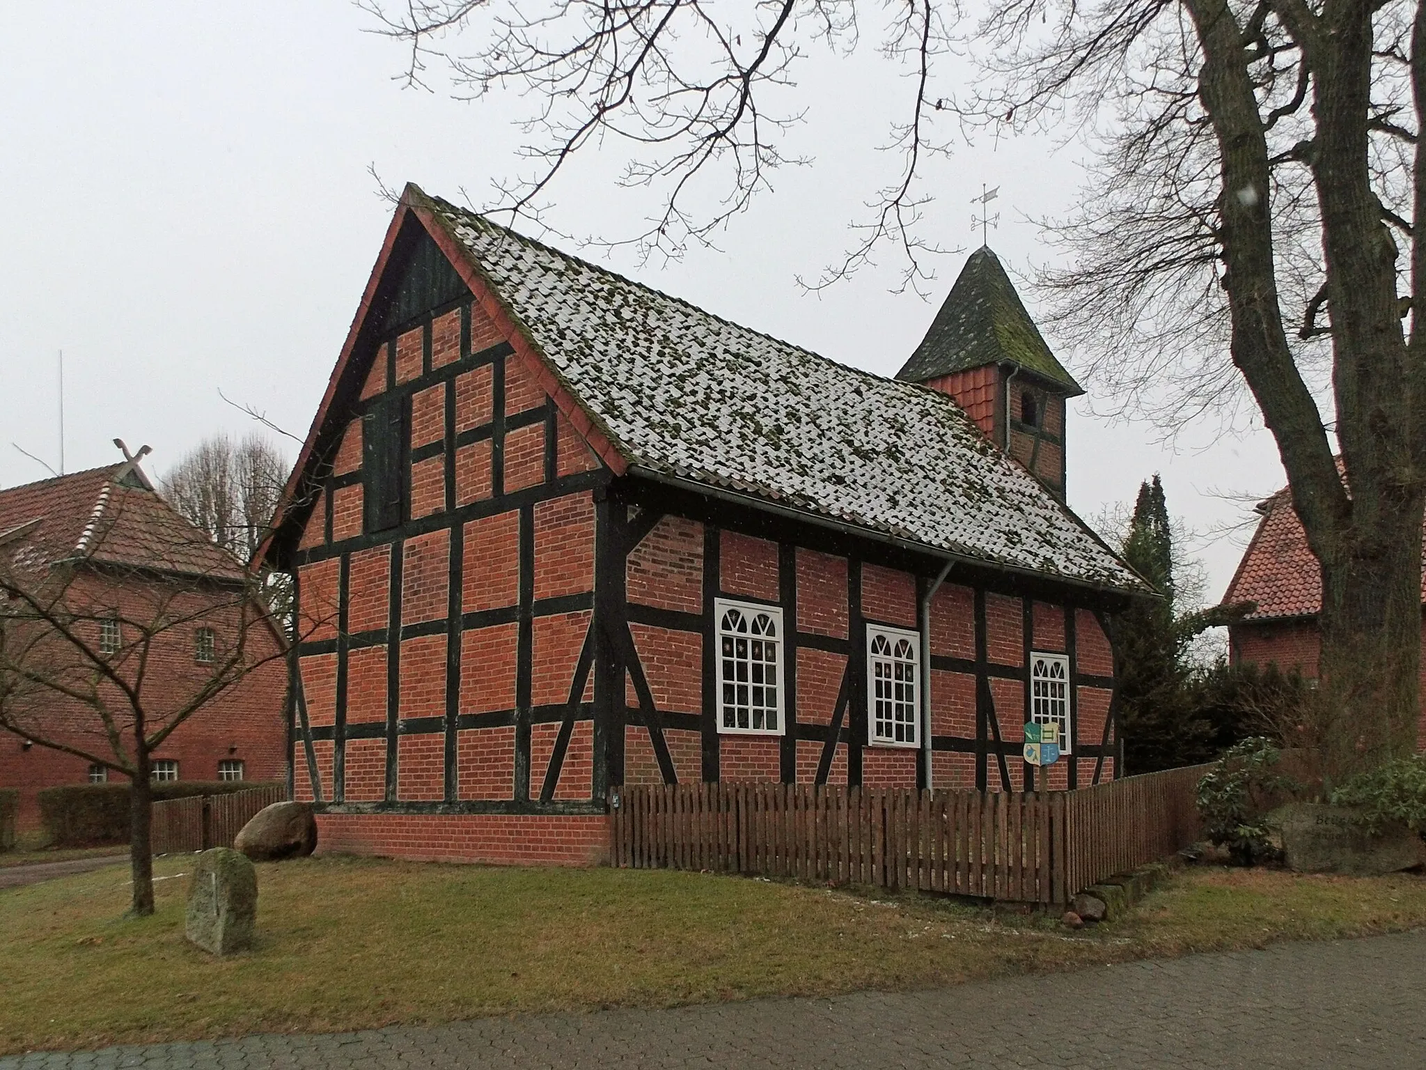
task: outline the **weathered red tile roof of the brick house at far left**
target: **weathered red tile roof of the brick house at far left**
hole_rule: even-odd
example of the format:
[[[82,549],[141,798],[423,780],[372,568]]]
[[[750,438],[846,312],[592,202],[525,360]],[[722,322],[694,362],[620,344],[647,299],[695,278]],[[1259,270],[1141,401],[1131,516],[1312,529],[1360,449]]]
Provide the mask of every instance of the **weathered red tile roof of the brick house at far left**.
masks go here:
[[[4,544],[27,548],[36,562],[70,558],[227,581],[245,575],[130,462],[0,489]]]

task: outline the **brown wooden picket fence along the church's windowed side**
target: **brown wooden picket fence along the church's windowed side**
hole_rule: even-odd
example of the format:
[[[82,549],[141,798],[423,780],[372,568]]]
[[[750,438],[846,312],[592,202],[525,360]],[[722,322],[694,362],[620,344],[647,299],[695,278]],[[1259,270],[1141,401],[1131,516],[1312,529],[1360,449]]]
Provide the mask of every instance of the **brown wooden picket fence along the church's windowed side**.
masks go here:
[[[1205,770],[1074,792],[626,786],[612,793],[610,862],[1064,903],[1192,843]]]

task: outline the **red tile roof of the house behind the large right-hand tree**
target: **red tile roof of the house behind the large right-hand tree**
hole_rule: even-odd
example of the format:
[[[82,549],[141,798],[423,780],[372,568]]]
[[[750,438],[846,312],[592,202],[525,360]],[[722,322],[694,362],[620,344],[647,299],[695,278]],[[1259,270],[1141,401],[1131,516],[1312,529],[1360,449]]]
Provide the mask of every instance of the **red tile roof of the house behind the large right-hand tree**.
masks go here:
[[[1262,521],[1238,562],[1224,603],[1256,602],[1258,609],[1245,621],[1316,615],[1322,609],[1322,572],[1308,549],[1308,534],[1292,508],[1292,495],[1283,488],[1258,509]],[[1426,603],[1426,569],[1422,602]]]

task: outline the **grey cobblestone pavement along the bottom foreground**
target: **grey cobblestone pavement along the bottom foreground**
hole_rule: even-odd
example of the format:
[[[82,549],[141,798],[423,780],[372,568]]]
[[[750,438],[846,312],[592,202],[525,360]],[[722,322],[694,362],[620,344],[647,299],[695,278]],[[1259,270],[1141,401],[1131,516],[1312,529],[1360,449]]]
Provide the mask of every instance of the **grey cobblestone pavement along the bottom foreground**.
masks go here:
[[[1426,932],[1298,943],[921,993],[483,1019],[0,1059],[144,1067],[1426,1066]]]

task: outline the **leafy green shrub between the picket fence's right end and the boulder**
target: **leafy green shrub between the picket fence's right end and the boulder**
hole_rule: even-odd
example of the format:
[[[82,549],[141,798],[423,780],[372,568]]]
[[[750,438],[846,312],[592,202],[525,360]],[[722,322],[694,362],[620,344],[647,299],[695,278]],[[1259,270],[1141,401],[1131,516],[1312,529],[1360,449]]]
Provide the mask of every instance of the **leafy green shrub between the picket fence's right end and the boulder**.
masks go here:
[[[1241,866],[1263,859],[1271,846],[1263,817],[1278,798],[1298,789],[1275,772],[1282,752],[1263,736],[1249,736],[1231,746],[1198,782],[1198,813],[1204,836]]]

